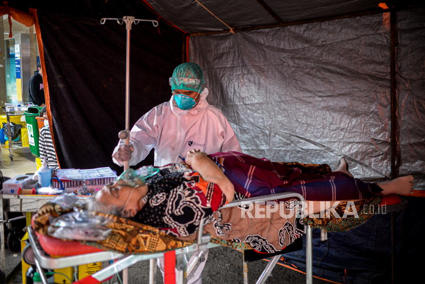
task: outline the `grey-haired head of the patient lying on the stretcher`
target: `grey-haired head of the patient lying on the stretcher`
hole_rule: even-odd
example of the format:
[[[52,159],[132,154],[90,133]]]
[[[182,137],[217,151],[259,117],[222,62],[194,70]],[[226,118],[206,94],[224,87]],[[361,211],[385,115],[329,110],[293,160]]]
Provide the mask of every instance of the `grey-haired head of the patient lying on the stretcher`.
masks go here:
[[[144,206],[147,185],[126,186],[113,182],[105,185],[95,197],[89,198],[86,207],[90,211],[119,217],[134,217]]]

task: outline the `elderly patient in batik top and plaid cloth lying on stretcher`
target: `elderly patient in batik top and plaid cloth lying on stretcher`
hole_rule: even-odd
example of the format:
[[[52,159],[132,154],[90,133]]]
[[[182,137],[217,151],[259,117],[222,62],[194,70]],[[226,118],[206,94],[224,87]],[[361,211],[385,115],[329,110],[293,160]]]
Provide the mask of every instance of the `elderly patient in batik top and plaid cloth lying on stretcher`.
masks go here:
[[[273,211],[274,215],[269,214],[265,221],[248,218],[256,216],[256,208],[246,218],[241,214],[246,208],[218,208],[233,199],[283,192],[299,193],[306,201],[358,201],[379,193],[408,194],[413,188],[412,176],[380,184],[364,183],[353,178],[347,169],[344,159],[334,172],[312,174],[291,163],[271,162],[236,152],[206,155],[194,150],[188,152],[186,163],[161,167],[144,181],[120,177],[99,191],[87,208],[160,228],[182,240],[194,239],[200,221],[207,217],[205,229],[214,235],[243,242],[255,236],[258,242],[258,235],[270,234],[271,228],[276,228],[276,233],[283,231],[282,234],[286,233],[283,238],[288,239],[288,235],[294,238],[297,226],[302,234],[302,226],[295,224],[293,216],[282,220],[281,212]],[[265,214],[264,208],[257,210],[262,211],[260,216]],[[293,206],[287,200],[283,211],[287,214],[290,210]],[[321,210],[324,208],[320,202],[315,202],[312,211]]]

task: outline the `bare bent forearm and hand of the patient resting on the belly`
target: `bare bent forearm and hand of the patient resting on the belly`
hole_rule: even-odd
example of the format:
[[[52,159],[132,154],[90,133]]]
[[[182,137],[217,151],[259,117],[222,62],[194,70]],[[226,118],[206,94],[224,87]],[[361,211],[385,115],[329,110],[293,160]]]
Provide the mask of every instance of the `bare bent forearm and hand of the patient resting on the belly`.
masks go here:
[[[235,196],[235,187],[230,180],[223,174],[218,165],[207,157],[207,154],[201,150],[192,150],[187,152],[186,163],[192,166],[205,181],[216,183],[223,192],[228,202]]]

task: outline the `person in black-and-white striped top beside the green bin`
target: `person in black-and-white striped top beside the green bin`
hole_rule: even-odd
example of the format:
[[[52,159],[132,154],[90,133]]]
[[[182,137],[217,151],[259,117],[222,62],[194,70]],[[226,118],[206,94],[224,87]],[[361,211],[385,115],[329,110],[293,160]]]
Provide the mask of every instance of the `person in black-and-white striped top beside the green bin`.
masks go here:
[[[40,138],[38,140],[38,147],[40,149],[40,159],[46,159],[49,168],[54,170],[59,169],[57,163],[55,147],[53,146],[52,135],[50,134],[49,120],[47,119],[47,110],[44,106],[40,110],[40,116],[44,118],[44,126],[40,129]]]

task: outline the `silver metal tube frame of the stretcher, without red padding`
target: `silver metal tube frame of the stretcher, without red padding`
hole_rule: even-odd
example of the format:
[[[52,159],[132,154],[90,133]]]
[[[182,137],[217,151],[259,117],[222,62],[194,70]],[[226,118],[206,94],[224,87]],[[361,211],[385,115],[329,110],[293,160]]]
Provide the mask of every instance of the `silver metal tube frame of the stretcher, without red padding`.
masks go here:
[[[302,195],[294,192],[288,192],[288,193],[280,193],[280,194],[272,194],[267,196],[260,196],[260,197],[253,197],[253,198],[247,198],[242,200],[235,200],[232,201],[224,206],[222,206],[220,209],[224,208],[230,208],[235,206],[244,206],[256,202],[266,202],[266,201],[275,201],[285,198],[298,198],[299,202],[305,202]],[[298,206],[298,212],[297,214],[300,214],[299,216],[304,216],[304,211]],[[204,219],[205,220],[205,219]],[[199,226],[198,230],[198,236],[197,236],[197,242],[195,244],[192,244],[190,246],[186,246],[184,248],[176,249],[176,269],[177,269],[177,279],[178,284],[186,284],[187,279],[192,277],[193,272],[196,270],[196,268],[199,266],[199,264],[202,262],[202,258],[206,250],[210,248],[220,247],[221,245],[210,243],[210,236],[207,234],[203,234],[203,224],[204,220],[201,221],[201,224]],[[313,271],[312,271],[312,229],[310,226],[305,225],[304,226],[304,233],[307,235],[307,245],[306,245],[306,283],[312,284],[313,283]],[[141,261],[147,261],[150,260],[150,276],[149,276],[149,283],[150,284],[157,284],[156,280],[156,274],[157,274],[157,266],[156,261],[158,257],[164,257],[164,252],[160,253],[151,253],[151,254],[142,254],[142,255],[124,255],[121,253],[111,252],[111,251],[102,251],[102,252],[95,252],[95,253],[87,253],[87,254],[81,254],[81,255],[74,255],[74,256],[67,256],[67,257],[60,257],[60,258],[53,258],[47,255],[41,248],[37,236],[35,235],[35,232],[31,226],[28,227],[28,235],[29,235],[29,241],[31,244],[31,247],[34,252],[34,261],[35,266],[37,267],[37,270],[39,272],[43,271],[42,269],[60,269],[60,268],[66,268],[71,266],[78,266],[83,265],[87,263],[92,262],[104,262],[104,261],[111,261],[113,259],[119,259],[118,261],[114,262],[113,264],[109,265],[108,267],[105,267],[94,274],[87,276],[84,279],[78,280],[74,282],[74,284],[93,284],[98,282],[103,282],[111,279],[115,274],[122,271],[123,275],[123,284],[128,284],[128,268],[131,265],[134,265]],[[186,254],[193,254],[195,252],[200,252],[198,257],[195,257],[194,261],[190,263],[188,266],[188,261]],[[257,280],[257,284],[264,284],[267,280],[268,276],[270,275],[271,271],[273,270],[274,266],[279,261],[280,255],[273,256],[271,261],[267,264],[266,268],[264,269],[263,273],[260,275],[259,279]],[[244,268],[247,267],[247,264],[244,263]],[[246,273],[245,273],[246,272]],[[244,283],[247,283],[248,277],[247,277],[247,269],[244,269]],[[46,275],[44,273],[40,273],[41,281],[44,284],[48,284]]]

